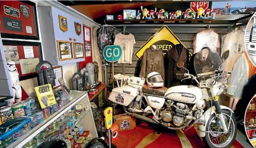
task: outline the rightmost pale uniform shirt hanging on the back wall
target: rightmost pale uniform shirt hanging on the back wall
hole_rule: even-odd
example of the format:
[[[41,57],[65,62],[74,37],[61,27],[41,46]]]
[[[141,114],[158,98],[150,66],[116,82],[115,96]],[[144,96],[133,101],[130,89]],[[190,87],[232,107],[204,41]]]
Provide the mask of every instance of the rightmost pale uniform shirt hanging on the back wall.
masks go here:
[[[223,71],[232,71],[236,60],[245,52],[243,31],[238,30],[222,36],[222,51],[220,55],[226,50],[229,50],[229,57],[223,63],[222,68]]]

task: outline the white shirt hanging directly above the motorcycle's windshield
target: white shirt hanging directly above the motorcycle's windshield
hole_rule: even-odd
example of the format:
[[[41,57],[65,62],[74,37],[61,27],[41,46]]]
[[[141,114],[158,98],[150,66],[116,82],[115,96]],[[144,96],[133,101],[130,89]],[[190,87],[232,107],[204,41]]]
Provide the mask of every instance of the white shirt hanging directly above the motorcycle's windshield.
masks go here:
[[[213,52],[219,52],[219,35],[210,29],[196,34],[193,42],[194,54],[199,52],[204,47],[209,47]]]

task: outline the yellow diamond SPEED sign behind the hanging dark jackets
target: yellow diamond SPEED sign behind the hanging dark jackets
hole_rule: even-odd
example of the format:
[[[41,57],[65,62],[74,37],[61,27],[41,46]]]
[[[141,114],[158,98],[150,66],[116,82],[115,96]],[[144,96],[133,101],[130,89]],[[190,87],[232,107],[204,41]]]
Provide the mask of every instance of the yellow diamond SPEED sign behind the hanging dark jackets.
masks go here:
[[[172,48],[172,46],[177,44],[183,45],[183,43],[178,40],[171,29],[169,29],[167,25],[164,25],[142,47],[140,47],[139,50],[135,52],[135,55],[140,59],[144,51],[151,45],[158,46],[165,53],[167,50]]]

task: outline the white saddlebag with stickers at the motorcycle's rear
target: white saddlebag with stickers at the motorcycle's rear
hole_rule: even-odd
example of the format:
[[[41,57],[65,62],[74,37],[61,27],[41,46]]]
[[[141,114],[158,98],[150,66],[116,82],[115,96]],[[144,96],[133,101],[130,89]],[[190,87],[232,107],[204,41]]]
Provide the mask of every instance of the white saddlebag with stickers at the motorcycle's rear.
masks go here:
[[[125,85],[123,87],[114,88],[108,99],[122,106],[128,106],[136,98],[138,93],[137,88]]]

